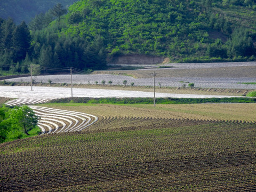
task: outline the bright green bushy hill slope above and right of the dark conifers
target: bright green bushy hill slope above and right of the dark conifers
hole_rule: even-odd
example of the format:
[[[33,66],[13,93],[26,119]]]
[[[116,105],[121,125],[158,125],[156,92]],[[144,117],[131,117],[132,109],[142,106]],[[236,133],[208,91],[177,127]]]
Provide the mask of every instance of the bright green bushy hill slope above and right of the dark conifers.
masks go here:
[[[241,27],[255,38],[256,12],[251,5],[226,6],[219,1],[83,0],[69,7],[66,19],[68,26],[62,33],[85,38],[99,34],[113,55],[122,52],[174,58],[233,58],[255,53],[253,50],[250,55],[239,54],[232,50],[235,42],[227,41],[232,36],[242,36],[247,42],[247,34],[236,34],[236,28]],[[215,42],[217,38],[222,41]],[[213,49],[208,50],[211,43]],[[249,44],[252,45],[251,40]]]

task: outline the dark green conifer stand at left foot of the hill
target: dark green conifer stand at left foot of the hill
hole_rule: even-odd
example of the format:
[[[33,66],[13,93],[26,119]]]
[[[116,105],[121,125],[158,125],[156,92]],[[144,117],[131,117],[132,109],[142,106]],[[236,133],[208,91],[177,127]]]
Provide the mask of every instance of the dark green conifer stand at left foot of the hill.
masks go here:
[[[25,21],[15,25],[11,18],[0,19],[0,69],[28,73],[31,63],[44,68],[104,69],[107,55],[101,36],[87,41],[79,36],[58,35],[60,17],[66,12],[57,4],[49,12],[37,15],[29,26]],[[46,29],[54,18],[55,26]]]

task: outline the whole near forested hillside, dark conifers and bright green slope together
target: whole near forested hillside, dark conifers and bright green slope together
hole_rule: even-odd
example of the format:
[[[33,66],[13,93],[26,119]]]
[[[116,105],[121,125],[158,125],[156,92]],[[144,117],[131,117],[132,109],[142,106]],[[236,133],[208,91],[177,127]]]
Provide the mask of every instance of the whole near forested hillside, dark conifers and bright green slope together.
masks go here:
[[[81,0],[15,25],[1,20],[0,68],[105,69],[139,53],[174,62],[254,61],[256,1]],[[26,37],[26,38],[25,38]]]

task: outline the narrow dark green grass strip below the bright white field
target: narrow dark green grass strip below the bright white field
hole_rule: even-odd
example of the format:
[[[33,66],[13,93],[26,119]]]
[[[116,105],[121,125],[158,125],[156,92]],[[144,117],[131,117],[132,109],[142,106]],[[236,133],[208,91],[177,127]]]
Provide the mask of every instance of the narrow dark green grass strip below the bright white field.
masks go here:
[[[151,104],[153,98],[62,98],[50,103],[105,103],[105,104]],[[157,104],[191,104],[191,103],[255,103],[256,98],[156,98]]]

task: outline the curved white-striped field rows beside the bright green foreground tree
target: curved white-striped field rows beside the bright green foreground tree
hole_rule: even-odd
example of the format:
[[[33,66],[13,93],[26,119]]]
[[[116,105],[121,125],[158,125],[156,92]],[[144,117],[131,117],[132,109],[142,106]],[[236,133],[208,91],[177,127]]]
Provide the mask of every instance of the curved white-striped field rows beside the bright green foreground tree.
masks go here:
[[[42,134],[82,131],[98,121],[98,117],[75,111],[29,106],[40,117]]]

